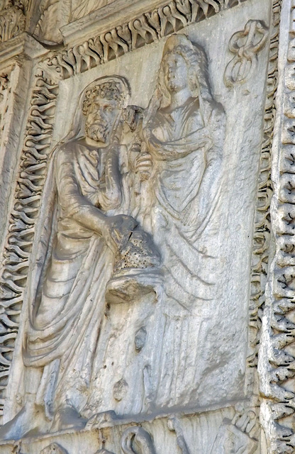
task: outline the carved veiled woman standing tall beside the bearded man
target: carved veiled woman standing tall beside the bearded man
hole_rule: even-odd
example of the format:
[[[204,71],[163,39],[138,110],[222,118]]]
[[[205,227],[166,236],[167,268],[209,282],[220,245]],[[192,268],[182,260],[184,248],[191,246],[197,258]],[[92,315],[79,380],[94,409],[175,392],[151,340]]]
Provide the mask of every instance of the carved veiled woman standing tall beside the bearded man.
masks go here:
[[[140,213],[136,207],[134,213],[152,233],[165,270],[155,341],[161,347],[151,372],[161,406],[197,399],[203,367],[198,355],[206,355],[200,339],[208,329],[201,314],[218,287],[218,251],[210,250],[210,238],[216,229],[224,133],[225,114],[211,95],[204,50],[185,35],[172,35],[143,115],[141,153],[135,159],[144,200]]]

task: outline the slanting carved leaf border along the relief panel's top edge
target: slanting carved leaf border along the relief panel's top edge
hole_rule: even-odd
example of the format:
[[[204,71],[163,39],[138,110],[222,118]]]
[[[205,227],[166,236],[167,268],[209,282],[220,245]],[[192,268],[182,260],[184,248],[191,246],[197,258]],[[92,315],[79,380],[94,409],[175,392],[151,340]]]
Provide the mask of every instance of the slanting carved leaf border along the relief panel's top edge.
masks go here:
[[[221,10],[230,9],[242,1],[247,0],[171,0],[84,43],[56,52],[45,60],[45,65],[49,70],[60,73],[62,79],[67,79],[182,30],[191,23],[203,21]]]

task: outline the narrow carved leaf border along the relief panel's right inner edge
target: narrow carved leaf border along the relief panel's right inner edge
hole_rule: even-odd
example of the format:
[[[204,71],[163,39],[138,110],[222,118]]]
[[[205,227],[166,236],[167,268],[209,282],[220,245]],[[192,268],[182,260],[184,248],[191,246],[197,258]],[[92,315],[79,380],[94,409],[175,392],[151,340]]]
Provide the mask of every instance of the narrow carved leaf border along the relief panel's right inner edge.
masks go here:
[[[267,99],[263,121],[262,150],[260,155],[260,173],[257,188],[257,206],[255,211],[255,231],[252,246],[252,266],[250,282],[249,306],[249,350],[247,365],[254,367],[250,380],[257,379],[258,350],[263,307],[265,305],[265,285],[269,263],[269,243],[271,238],[270,201],[273,187],[272,170],[272,138],[274,134],[274,118],[276,114],[275,96],[277,94],[277,70],[279,50],[279,24],[282,0],[274,0],[272,7],[272,29],[269,48],[269,64],[267,70]],[[254,383],[250,383],[253,389]]]

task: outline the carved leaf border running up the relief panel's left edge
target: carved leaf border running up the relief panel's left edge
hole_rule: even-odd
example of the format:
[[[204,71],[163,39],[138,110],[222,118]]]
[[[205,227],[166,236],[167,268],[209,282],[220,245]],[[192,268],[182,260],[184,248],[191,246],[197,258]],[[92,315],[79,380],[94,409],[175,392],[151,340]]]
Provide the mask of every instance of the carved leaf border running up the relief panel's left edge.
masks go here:
[[[55,117],[58,85],[35,76],[35,87],[28,114],[28,126],[16,183],[9,233],[4,248],[0,277],[0,414],[3,413],[9,368],[18,333],[18,317],[28,276],[33,245],[48,168],[48,155]]]

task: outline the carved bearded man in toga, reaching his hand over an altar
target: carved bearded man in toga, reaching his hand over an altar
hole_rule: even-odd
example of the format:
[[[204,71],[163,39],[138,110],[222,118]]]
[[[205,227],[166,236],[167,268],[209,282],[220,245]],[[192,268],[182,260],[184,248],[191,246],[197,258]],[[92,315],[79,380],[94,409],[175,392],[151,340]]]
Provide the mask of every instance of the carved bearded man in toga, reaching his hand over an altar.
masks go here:
[[[122,206],[119,136],[127,96],[121,77],[89,84],[72,131],[52,155],[28,289],[25,399],[21,411],[1,428],[1,438],[21,438],[35,426],[48,431],[85,423],[80,415],[87,403],[106,285],[138,226],[131,216],[117,214]],[[134,234],[148,243],[140,228]],[[156,250],[152,244],[147,249],[145,266],[157,266]],[[45,417],[37,420],[40,406]]]

